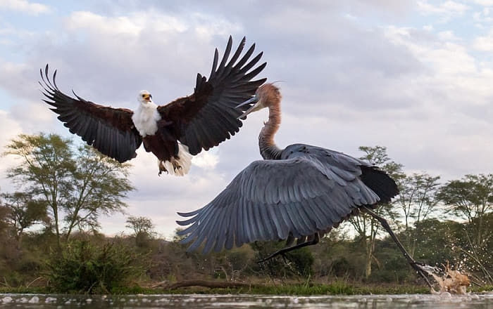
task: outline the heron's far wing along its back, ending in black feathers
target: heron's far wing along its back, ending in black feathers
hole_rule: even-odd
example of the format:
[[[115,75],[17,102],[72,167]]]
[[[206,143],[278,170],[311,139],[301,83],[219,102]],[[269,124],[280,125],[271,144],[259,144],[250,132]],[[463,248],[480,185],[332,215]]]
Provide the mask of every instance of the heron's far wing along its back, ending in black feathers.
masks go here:
[[[345,183],[358,177],[375,192],[380,203],[388,203],[399,194],[397,183],[385,171],[361,159],[335,150],[306,144],[289,145],[282,151],[282,159],[311,157],[321,162],[327,173],[333,173],[336,181]]]

